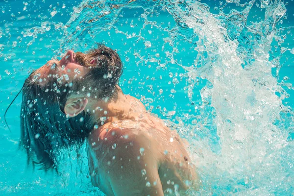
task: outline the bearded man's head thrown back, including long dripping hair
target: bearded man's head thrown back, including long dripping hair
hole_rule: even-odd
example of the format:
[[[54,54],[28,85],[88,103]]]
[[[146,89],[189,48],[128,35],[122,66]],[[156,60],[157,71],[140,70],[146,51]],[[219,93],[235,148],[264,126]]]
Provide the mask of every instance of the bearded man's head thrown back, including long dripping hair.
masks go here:
[[[59,147],[81,144],[95,123],[88,101],[115,99],[123,66],[104,45],[84,54],[68,51],[31,73],[23,87],[21,146],[44,169],[53,166]]]

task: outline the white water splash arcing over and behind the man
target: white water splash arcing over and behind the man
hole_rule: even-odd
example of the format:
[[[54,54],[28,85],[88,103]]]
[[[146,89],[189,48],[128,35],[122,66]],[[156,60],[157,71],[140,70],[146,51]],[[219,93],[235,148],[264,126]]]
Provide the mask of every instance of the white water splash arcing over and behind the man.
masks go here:
[[[167,33],[162,46],[156,46],[166,53],[165,63],[155,60],[159,66],[157,69],[165,69],[169,64],[184,68],[186,72],[182,77],[187,81],[184,89],[190,102],[195,100],[197,83],[206,81],[196,115],[177,115],[179,123],[173,125],[183,137],[193,136],[189,139],[190,150],[202,178],[198,194],[270,195],[283,190],[290,194],[294,173],[290,172],[292,166],[286,163],[292,162],[293,144],[288,141],[289,127],[283,122],[289,124],[292,121],[289,117],[292,112],[283,105],[282,100],[289,94],[278,82],[279,59],[283,52],[275,58],[270,56],[272,40],[277,40],[279,46],[283,43],[276,26],[286,8],[279,0],[262,0],[264,19],[249,25],[248,15],[256,1],[245,4],[238,0],[227,1],[230,2],[242,7],[242,11],[231,10],[228,14],[221,11],[214,15],[203,3],[181,0],[122,0],[118,5],[108,1],[93,5],[91,0],[84,1],[68,25],[75,27],[84,22],[82,29],[87,33],[68,28],[66,35],[68,31],[73,33],[66,37],[65,43],[91,43],[91,38],[101,31],[115,29],[127,39],[136,38],[136,43],[143,41],[145,46],[148,43],[149,48],[153,43],[142,33],[147,25]],[[103,7],[100,6],[102,3]],[[141,14],[144,25],[139,33],[119,30],[116,23],[122,9],[138,7],[144,9]],[[152,20],[150,14],[162,14],[158,7],[173,17],[175,24],[172,27],[164,27]],[[175,54],[184,52],[177,46],[179,39],[196,50],[192,65],[176,59]],[[146,57],[141,60],[149,61]],[[273,68],[276,68],[275,75]],[[169,117],[167,113],[163,111],[161,114]],[[185,117],[194,120],[188,128],[183,124]]]

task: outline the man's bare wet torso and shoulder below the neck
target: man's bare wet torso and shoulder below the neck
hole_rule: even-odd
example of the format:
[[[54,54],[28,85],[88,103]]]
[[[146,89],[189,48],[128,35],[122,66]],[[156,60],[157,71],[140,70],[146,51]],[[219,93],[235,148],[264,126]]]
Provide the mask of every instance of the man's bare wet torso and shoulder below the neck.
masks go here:
[[[183,195],[197,178],[183,142],[130,99],[136,107],[129,120],[114,119],[88,138],[92,183],[108,196]]]

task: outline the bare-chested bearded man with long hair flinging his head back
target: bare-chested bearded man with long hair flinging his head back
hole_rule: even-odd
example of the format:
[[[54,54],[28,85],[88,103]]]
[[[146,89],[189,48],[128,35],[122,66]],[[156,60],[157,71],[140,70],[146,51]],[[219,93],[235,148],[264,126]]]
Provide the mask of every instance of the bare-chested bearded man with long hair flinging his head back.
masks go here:
[[[186,195],[196,168],[176,131],[118,86],[123,65],[104,45],[68,51],[31,73],[23,87],[21,145],[44,169],[60,147],[87,139],[91,181],[107,196]]]

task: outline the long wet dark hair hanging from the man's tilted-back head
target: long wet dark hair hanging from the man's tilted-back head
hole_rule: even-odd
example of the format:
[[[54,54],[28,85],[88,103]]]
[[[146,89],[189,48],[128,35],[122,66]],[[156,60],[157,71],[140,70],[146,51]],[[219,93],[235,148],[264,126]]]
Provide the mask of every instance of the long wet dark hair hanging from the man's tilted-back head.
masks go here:
[[[23,87],[20,145],[28,163],[40,164],[41,169],[56,167],[58,149],[82,144],[94,126],[87,112],[66,117],[61,108],[67,96],[63,91],[68,91],[68,85],[50,81],[43,87],[30,77]]]

